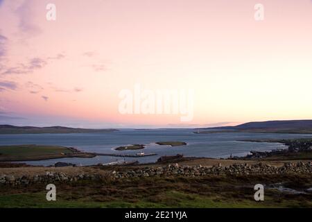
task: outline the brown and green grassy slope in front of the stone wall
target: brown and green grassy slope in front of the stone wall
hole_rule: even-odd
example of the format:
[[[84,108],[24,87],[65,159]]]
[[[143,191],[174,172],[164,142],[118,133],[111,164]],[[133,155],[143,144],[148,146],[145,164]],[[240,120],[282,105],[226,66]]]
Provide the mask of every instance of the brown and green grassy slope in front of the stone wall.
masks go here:
[[[57,185],[57,200],[47,201],[45,185],[0,190],[0,207],[312,207],[311,194],[266,189],[254,200],[254,185],[285,182],[306,189],[311,176],[154,177],[83,181]]]

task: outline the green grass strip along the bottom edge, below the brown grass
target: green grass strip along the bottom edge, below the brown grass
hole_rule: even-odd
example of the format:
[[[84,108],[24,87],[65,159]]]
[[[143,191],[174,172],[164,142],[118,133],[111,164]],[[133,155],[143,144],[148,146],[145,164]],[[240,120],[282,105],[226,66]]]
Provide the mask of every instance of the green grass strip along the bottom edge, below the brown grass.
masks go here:
[[[267,207],[265,203],[257,203],[254,200],[224,200],[216,197],[202,197],[196,194],[184,194],[178,191],[169,191],[157,195],[159,202],[154,200],[137,200],[130,202],[128,200],[116,199],[111,201],[91,200],[81,198],[78,200],[67,200],[64,197],[57,198],[56,201],[47,201],[45,192],[33,194],[10,194],[0,196],[0,207]],[[271,201],[271,200],[270,200]],[[300,205],[300,203],[295,203]],[[269,205],[268,207],[287,207],[293,206],[286,203],[282,205]]]

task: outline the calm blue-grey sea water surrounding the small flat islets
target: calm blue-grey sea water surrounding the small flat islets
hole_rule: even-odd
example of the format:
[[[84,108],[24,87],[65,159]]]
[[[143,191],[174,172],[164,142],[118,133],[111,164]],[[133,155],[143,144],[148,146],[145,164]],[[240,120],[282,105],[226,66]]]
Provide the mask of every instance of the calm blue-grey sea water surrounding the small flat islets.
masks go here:
[[[78,165],[105,164],[116,161],[138,160],[141,163],[155,162],[162,155],[183,154],[186,157],[229,157],[243,156],[250,151],[270,151],[275,148],[287,148],[279,143],[239,142],[242,139],[294,139],[312,137],[307,134],[277,133],[209,133],[197,134],[191,129],[121,129],[112,133],[65,133],[65,134],[20,134],[0,135],[0,145],[40,144],[71,146],[80,151],[96,153],[116,153],[135,155],[156,153],[146,157],[111,157],[97,156],[93,158],[61,158],[53,160],[26,161],[33,165],[52,165],[55,162],[71,162]],[[187,146],[159,146],[155,142],[180,141]],[[130,144],[146,144],[146,148],[136,151],[115,151],[118,146]]]

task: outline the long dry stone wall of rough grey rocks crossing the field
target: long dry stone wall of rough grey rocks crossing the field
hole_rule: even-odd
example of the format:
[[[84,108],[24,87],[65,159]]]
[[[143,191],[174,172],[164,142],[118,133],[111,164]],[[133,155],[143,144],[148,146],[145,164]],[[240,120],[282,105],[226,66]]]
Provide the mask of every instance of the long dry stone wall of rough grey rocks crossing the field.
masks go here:
[[[105,177],[114,180],[120,178],[142,178],[151,176],[208,176],[208,175],[254,175],[254,174],[283,174],[283,173],[312,173],[312,162],[285,163],[283,167],[272,167],[266,164],[234,164],[229,167],[222,167],[220,164],[214,167],[189,167],[179,164],[169,164],[164,167],[144,167],[135,170],[112,171]],[[44,175],[35,176],[12,176],[0,175],[1,185],[31,185],[35,183],[58,183],[58,182],[76,182],[78,180],[101,180],[103,175],[80,173],[69,176],[62,172],[46,171]]]

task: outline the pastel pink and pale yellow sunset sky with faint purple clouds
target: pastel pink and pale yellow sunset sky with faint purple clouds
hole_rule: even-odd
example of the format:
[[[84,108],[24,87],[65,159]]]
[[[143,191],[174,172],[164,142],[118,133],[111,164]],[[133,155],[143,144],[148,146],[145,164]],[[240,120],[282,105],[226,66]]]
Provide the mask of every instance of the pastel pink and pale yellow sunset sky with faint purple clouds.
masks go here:
[[[46,5],[56,20],[46,19]],[[254,19],[254,5],[264,20]],[[0,0],[0,124],[312,119],[311,0]],[[123,89],[193,89],[193,119],[121,114]]]

